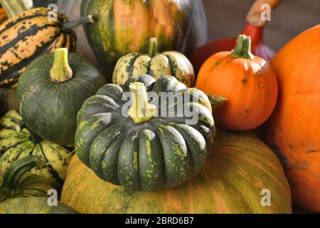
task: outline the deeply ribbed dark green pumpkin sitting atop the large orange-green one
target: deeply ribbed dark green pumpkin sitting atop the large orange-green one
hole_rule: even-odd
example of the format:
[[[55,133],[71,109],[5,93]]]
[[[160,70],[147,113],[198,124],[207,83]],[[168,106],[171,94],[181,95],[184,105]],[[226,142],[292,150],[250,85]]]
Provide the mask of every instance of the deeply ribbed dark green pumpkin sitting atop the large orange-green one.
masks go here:
[[[132,91],[132,85],[141,86],[146,103],[146,90],[156,94],[171,92],[176,97],[198,96],[196,102],[182,103],[183,107],[193,107],[198,122],[186,124],[188,118],[184,112],[181,117],[176,113],[171,117],[161,116],[161,108],[153,118],[142,118],[138,123],[133,115],[122,115],[127,103],[122,95]],[[154,102],[157,101],[155,98]],[[155,104],[146,103],[145,107]],[[166,105],[170,112],[168,101],[159,102],[160,105]],[[173,112],[177,110],[175,108]],[[129,78],[122,87],[107,84],[85,101],[78,113],[75,150],[80,160],[102,180],[123,185],[128,190],[152,191],[176,187],[198,175],[214,135],[215,126],[206,94],[186,88],[173,76],[155,80],[145,75]]]

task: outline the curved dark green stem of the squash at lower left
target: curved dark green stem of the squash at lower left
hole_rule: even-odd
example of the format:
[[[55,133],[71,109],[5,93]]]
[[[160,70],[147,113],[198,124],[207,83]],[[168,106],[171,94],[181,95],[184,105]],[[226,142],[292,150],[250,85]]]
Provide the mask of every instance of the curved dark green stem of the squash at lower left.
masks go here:
[[[21,194],[19,186],[21,177],[31,171],[33,168],[42,169],[46,167],[46,162],[41,160],[40,157],[30,155],[23,157],[16,162],[12,163],[9,169],[4,174],[4,179],[0,186],[0,192],[7,197],[14,197]],[[1,195],[1,194],[0,194]],[[1,199],[0,199],[1,202]]]

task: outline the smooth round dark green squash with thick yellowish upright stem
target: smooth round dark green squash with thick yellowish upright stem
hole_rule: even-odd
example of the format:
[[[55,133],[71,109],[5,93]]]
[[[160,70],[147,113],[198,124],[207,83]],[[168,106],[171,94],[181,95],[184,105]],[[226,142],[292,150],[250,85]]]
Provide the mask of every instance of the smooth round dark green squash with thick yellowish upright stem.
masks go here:
[[[63,67],[58,62],[53,64],[55,53],[62,52],[65,52],[63,64],[70,65],[73,73],[70,78],[53,79],[50,75],[53,66]],[[57,49],[55,53],[38,58],[21,76],[17,89],[20,112],[28,128],[41,138],[73,145],[77,113],[82,103],[105,85],[105,78],[78,53],[68,55],[65,49]]]

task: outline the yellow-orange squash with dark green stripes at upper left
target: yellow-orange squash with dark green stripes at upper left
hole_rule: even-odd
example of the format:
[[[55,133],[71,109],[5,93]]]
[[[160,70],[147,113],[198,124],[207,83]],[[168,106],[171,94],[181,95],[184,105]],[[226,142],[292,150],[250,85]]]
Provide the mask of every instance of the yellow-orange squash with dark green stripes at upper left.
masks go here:
[[[0,88],[16,88],[19,76],[31,62],[56,48],[75,51],[74,26],[92,21],[90,16],[68,22],[64,14],[49,19],[49,9],[36,8],[0,25]]]

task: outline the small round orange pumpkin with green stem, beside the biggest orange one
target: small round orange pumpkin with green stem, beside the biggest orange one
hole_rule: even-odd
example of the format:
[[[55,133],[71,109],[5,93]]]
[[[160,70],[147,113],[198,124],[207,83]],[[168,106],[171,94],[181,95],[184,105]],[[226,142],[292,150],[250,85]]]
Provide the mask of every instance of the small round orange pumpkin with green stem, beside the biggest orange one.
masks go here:
[[[208,58],[196,88],[228,100],[215,111],[215,122],[231,130],[251,130],[265,123],[277,103],[277,78],[263,58],[250,52],[250,37],[240,35],[235,50]]]

